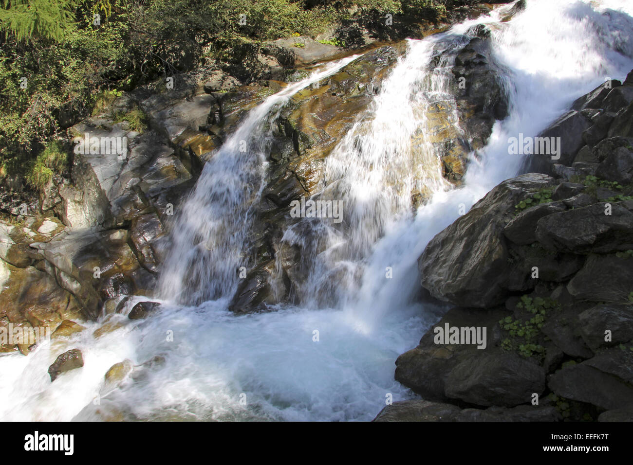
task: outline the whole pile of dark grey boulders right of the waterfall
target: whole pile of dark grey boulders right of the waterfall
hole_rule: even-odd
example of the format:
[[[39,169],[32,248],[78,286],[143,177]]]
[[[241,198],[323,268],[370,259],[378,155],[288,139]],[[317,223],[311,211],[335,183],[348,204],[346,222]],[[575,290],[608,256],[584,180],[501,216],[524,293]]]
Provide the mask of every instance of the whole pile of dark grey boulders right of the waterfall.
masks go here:
[[[424,400],[377,421],[501,419],[508,407],[544,421],[631,418],[633,94],[610,84],[543,132],[565,138],[560,159],[530,161],[551,176],[506,180],[429,242],[422,286],[460,307],[396,361],[396,380]],[[446,323],[486,328],[486,349],[436,344]],[[490,408],[475,418],[463,402]]]

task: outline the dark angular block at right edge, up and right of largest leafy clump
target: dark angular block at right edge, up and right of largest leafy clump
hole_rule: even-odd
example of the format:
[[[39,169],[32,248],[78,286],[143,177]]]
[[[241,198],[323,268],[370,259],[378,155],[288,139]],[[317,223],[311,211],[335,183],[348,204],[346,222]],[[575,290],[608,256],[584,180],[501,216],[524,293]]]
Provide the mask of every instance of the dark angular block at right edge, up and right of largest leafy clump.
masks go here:
[[[567,290],[576,299],[629,303],[629,293],[633,292],[630,276],[633,276],[633,259],[591,254],[567,284]]]

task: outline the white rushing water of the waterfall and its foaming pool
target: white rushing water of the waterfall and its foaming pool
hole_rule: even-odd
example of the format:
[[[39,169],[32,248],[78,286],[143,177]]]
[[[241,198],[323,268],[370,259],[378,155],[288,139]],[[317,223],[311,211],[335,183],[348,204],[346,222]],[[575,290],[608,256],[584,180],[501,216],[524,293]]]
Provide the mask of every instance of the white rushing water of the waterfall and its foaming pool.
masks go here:
[[[347,229],[300,221],[284,236],[308,250],[305,304],[235,316],[227,304],[265,179],[270,123],[294,92],[356,57],[268,97],[206,164],[185,202],[161,278],[160,313],[142,321],[114,315],[108,324],[121,326],[100,338],[92,336],[99,324],[91,323],[28,357],[0,357],[0,419],[369,420],[387,394],[410,397],[394,381],[394,360],[442,311],[411,299],[419,286],[417,257],[457,218],[460,204],[470,207],[517,174],[521,159],[508,155],[508,137],[536,135],[573,99],[633,68],[629,15],[628,0],[529,0],[508,22],[497,10],[411,40],[367,113],[327,159],[319,195],[344,202]],[[465,185],[453,189],[441,177],[423,110],[435,101],[454,108],[446,91],[453,51],[478,23],[491,28],[495,58],[507,70],[510,115],[473,154]],[[442,59],[431,69],[437,53]],[[453,119],[458,129],[456,112]],[[416,190],[432,196],[417,210]],[[49,364],[73,347],[82,350],[84,368],[51,384]],[[113,364],[128,358],[140,365],[157,355],[162,363],[137,370],[118,388],[104,386]]]

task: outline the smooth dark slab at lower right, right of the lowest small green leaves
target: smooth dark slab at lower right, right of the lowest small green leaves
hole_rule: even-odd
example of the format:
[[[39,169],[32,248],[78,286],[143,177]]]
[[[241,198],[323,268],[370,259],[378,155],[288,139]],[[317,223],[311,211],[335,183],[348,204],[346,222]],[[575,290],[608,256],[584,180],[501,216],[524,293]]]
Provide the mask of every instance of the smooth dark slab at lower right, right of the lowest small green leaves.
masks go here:
[[[586,364],[566,366],[548,382],[556,395],[602,409],[633,406],[633,386]]]

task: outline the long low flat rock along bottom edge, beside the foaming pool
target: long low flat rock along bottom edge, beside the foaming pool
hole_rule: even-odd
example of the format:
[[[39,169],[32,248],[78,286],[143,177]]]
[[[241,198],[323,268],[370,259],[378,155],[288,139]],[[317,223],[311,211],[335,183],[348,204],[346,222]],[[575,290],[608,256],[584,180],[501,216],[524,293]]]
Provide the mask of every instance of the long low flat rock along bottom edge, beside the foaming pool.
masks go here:
[[[429,400],[401,400],[385,407],[373,421],[559,421],[555,407],[460,409]]]

